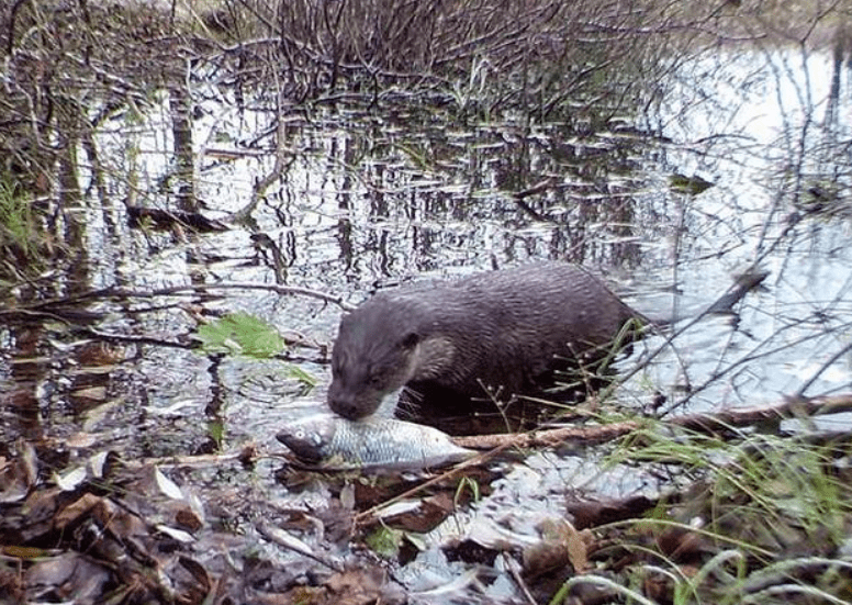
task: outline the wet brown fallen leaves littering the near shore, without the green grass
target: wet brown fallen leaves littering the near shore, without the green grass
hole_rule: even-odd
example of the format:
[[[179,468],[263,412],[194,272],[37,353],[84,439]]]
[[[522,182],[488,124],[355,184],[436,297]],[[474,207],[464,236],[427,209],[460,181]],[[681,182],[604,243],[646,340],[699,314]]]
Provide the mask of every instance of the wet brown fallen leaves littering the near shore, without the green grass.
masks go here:
[[[650,570],[665,557],[684,578],[706,580],[719,557],[746,565],[831,541],[791,514],[769,533],[751,526],[748,542],[720,542],[707,519],[742,506],[741,494],[698,481],[604,498],[590,495],[592,486],[541,483],[547,466],[535,456],[370,475],[305,471],[257,448],[157,460],[98,451],[47,473],[36,448],[21,442],[16,451],[0,475],[2,493],[20,496],[3,502],[0,520],[4,560],[15,562],[0,575],[0,595],[13,602],[514,603],[519,595],[542,602],[570,585],[576,603],[594,603],[618,594],[602,570]],[[202,486],[191,469],[213,472],[217,485]],[[284,497],[261,485],[272,479],[267,471]],[[549,496],[528,495],[531,507],[517,508],[518,493],[543,485]],[[726,523],[725,535],[736,536],[744,522]],[[832,552],[827,546],[820,554]],[[670,598],[671,579],[642,578],[643,594]]]

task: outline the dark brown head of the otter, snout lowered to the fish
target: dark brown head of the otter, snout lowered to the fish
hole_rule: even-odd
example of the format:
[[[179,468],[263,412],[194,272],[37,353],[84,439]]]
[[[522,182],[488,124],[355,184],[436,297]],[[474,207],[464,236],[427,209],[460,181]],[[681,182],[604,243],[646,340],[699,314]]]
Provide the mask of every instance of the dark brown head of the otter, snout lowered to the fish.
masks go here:
[[[421,336],[406,327],[410,323],[379,301],[344,316],[332,350],[328,405],[334,412],[349,419],[369,416],[412,379]]]

